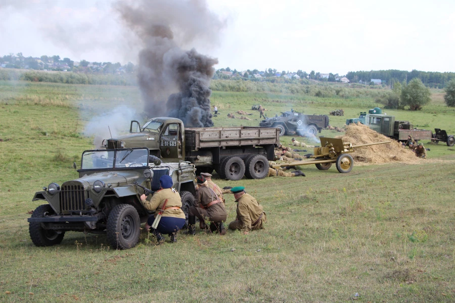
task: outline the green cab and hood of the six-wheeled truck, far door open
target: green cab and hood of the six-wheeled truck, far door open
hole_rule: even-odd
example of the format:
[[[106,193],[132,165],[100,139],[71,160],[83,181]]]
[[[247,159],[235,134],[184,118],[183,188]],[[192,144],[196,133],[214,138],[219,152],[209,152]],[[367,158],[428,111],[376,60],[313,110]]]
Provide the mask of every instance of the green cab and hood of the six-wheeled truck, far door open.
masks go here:
[[[185,158],[185,126],[180,119],[157,117],[144,125],[131,121],[129,134],[103,140],[102,147],[147,147],[150,154],[166,162],[183,161]]]

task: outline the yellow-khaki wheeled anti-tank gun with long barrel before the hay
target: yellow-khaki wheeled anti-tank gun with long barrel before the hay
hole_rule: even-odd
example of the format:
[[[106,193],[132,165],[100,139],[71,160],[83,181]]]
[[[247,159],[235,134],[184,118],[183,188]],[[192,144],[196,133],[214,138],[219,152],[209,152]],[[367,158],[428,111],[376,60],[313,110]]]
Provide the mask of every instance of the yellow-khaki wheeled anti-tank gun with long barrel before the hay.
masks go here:
[[[354,166],[354,159],[349,155],[354,152],[354,148],[363,146],[371,146],[377,144],[390,143],[390,141],[382,141],[368,144],[352,145],[350,142],[343,142],[338,138],[320,137],[321,147],[314,147],[314,155],[310,156],[311,160],[294,161],[287,163],[276,163],[273,168],[310,165],[314,164],[319,170],[328,170],[335,163],[337,170],[340,173],[348,173]]]

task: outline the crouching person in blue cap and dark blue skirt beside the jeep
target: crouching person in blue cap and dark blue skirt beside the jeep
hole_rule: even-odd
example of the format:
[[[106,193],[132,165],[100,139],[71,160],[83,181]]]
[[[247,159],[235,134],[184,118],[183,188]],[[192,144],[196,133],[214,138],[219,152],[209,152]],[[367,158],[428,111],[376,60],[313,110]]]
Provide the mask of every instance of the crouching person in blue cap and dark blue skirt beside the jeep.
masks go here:
[[[153,195],[146,197],[145,194],[141,195],[141,201],[144,207],[149,211],[161,210],[166,201],[166,206],[162,214],[161,220],[156,229],[152,228],[155,215],[151,215],[147,220],[145,228],[150,230],[155,235],[157,242],[164,241],[162,233],[168,234],[171,242],[177,242],[176,233],[185,225],[185,213],[181,208],[181,199],[178,192],[172,187],[172,178],[168,175],[161,176],[160,178],[161,189],[156,191]]]

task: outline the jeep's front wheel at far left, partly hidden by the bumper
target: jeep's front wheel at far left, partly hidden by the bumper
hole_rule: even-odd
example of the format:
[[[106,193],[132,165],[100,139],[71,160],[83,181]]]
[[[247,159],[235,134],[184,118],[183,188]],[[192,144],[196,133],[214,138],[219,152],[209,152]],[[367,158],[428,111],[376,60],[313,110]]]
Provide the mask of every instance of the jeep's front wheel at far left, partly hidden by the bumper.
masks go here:
[[[32,218],[44,218],[45,214],[55,214],[49,204],[38,206],[31,215]],[[36,246],[52,246],[60,244],[65,236],[65,232],[59,232],[53,229],[44,229],[39,222],[30,222],[28,224],[30,238]]]

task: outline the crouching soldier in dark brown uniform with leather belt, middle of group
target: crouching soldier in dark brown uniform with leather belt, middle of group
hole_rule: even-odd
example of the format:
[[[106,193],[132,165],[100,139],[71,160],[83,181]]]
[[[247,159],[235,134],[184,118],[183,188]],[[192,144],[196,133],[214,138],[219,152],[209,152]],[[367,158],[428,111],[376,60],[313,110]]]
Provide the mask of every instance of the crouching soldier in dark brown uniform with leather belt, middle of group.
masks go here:
[[[210,221],[210,231],[218,231],[219,234],[224,235],[226,230],[223,222],[228,218],[224,203],[213,189],[208,187],[204,176],[198,176],[196,179],[199,189],[196,192],[195,205],[190,207],[188,234],[196,234],[196,217],[198,217],[201,229],[206,228],[205,219],[207,218]]]

